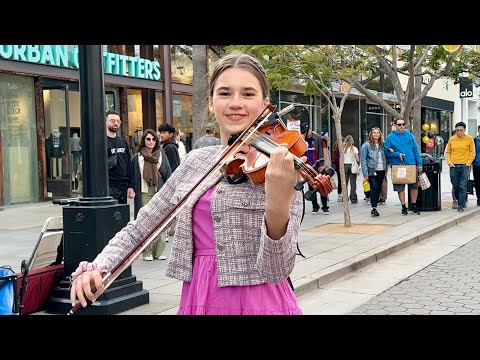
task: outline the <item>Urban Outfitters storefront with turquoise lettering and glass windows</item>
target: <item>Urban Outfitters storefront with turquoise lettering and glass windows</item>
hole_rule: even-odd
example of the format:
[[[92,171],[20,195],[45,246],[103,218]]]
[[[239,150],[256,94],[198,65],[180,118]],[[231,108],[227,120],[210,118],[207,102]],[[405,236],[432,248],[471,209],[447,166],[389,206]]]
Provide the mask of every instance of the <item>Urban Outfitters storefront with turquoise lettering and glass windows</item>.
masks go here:
[[[104,54],[105,109],[121,114],[122,134],[133,149],[145,118],[153,118],[153,127],[165,118],[164,104],[156,105],[164,98],[160,64]],[[76,46],[0,45],[0,205],[76,196],[78,81]],[[154,105],[145,107],[149,93]]]

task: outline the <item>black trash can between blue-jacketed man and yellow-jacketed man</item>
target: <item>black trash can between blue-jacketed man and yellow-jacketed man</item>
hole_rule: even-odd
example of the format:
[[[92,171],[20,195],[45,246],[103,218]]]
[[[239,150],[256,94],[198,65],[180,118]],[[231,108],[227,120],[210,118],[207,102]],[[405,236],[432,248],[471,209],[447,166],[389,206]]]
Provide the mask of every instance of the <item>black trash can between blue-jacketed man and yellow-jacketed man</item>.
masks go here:
[[[435,159],[430,154],[422,153],[423,172],[427,174],[431,186],[422,190],[418,187],[417,208],[420,211],[439,211],[442,210],[442,189],[441,189],[441,172],[442,159]],[[410,193],[409,203],[410,203]]]

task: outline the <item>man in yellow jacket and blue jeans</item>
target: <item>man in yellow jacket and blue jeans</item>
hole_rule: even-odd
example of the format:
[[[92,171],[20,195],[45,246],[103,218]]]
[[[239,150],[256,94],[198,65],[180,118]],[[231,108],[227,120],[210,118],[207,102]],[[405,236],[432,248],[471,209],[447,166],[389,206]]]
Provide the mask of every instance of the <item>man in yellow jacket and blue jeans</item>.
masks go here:
[[[448,140],[445,154],[447,164],[450,166],[450,181],[458,202],[457,210],[459,212],[465,208],[468,175],[470,166],[475,159],[475,144],[473,138],[465,134],[466,127],[462,121],[455,124],[456,135]]]

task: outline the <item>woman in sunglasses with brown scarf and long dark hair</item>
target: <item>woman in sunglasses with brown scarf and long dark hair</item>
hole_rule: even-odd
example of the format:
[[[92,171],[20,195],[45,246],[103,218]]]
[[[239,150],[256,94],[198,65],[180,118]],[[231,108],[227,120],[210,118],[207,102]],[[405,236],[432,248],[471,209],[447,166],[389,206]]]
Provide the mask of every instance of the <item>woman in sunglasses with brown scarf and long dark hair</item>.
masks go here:
[[[133,178],[135,181],[135,219],[142,206],[150,201],[155,193],[160,190],[165,181],[172,174],[167,156],[160,146],[155,131],[145,130],[138,147],[137,153],[133,156]],[[153,259],[165,260],[163,255],[166,247],[166,232],[163,232],[150,250],[143,253],[143,260]]]

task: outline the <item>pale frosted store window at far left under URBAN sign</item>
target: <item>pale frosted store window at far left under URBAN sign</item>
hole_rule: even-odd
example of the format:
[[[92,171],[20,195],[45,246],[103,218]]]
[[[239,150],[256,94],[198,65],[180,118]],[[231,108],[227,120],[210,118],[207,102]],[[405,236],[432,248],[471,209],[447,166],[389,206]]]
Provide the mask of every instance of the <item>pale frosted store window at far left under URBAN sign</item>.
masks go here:
[[[0,74],[0,134],[5,204],[38,201],[33,78]]]

